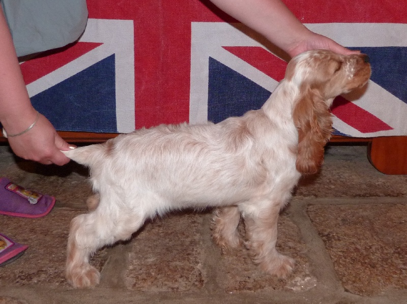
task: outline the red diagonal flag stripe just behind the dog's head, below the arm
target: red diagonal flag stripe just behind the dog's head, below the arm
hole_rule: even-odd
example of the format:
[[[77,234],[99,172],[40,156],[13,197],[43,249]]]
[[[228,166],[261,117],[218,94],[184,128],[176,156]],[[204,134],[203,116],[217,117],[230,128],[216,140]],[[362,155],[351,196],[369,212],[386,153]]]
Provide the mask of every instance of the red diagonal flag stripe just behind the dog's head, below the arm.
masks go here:
[[[262,47],[224,46],[223,48],[277,81],[284,78],[287,63]]]

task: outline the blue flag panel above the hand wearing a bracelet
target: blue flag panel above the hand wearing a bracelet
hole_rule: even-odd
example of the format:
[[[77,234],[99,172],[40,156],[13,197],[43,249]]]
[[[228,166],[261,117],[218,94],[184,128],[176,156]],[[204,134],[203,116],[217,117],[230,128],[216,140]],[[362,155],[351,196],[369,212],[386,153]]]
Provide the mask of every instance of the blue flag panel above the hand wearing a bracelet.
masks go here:
[[[114,54],[31,101],[56,130],[117,132]]]

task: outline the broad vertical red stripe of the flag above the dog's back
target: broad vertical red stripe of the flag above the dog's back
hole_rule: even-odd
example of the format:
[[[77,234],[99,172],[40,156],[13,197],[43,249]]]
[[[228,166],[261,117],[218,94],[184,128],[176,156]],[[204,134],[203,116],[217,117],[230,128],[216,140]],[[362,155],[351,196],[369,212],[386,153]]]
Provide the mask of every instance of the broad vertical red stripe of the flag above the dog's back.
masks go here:
[[[147,1],[134,20],[136,129],[189,121],[191,22],[221,19],[200,1]]]

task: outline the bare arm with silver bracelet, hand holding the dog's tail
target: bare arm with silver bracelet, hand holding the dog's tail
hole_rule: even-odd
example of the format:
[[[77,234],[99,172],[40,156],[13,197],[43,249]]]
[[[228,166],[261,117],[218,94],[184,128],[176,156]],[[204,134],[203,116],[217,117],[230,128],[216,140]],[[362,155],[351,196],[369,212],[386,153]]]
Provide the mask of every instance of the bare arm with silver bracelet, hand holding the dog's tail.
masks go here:
[[[18,134],[30,127],[37,111],[28,97],[13,40],[0,6],[0,122],[8,134]],[[43,164],[64,165],[69,162],[61,150],[69,150],[65,142],[43,115],[33,128],[16,137],[9,137],[14,153],[24,159]]]

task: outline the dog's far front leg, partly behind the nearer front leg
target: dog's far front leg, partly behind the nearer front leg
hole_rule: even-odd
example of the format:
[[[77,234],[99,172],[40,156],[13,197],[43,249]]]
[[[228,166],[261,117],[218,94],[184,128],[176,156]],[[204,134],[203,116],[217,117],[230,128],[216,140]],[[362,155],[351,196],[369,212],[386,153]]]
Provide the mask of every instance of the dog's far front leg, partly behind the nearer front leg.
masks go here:
[[[238,232],[241,212],[237,206],[216,208],[213,212],[212,238],[222,249],[237,248],[241,244]]]

